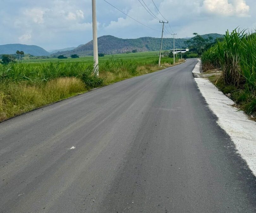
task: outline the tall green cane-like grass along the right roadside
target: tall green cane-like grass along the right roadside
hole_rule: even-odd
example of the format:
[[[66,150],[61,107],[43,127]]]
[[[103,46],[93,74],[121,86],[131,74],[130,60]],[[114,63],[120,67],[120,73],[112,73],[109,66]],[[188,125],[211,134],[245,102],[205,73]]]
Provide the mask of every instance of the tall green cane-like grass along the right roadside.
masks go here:
[[[248,113],[256,111],[256,34],[235,29],[226,32],[224,41],[218,42],[202,55],[203,67],[220,66],[223,83],[235,86],[236,100],[245,103]],[[246,92],[246,95],[244,93]],[[244,98],[246,97],[246,98]]]

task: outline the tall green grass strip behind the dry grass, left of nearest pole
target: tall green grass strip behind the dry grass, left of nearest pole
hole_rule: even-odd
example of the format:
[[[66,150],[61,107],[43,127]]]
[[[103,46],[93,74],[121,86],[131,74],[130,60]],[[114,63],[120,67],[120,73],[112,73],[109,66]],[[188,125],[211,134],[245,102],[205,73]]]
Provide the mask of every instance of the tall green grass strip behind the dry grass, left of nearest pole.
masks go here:
[[[80,78],[87,87],[101,86],[103,80],[94,74],[92,64],[84,63],[12,63],[0,66],[0,82],[4,80],[30,83],[48,81],[60,77]]]

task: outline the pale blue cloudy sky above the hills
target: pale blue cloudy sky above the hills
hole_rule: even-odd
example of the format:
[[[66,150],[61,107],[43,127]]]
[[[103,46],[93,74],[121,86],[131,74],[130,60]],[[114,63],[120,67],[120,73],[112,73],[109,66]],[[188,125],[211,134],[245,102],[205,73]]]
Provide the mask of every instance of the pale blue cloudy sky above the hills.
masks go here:
[[[161,37],[159,20],[168,20],[164,37],[221,33],[236,27],[255,29],[255,0],[96,0],[98,37]],[[144,3],[156,16],[143,8]],[[142,4],[141,4],[141,3]],[[156,7],[159,9],[160,14]],[[33,44],[46,50],[86,44],[92,40],[91,0],[0,0],[0,45]],[[144,5],[145,8],[147,8]],[[165,20],[165,19],[166,20]]]

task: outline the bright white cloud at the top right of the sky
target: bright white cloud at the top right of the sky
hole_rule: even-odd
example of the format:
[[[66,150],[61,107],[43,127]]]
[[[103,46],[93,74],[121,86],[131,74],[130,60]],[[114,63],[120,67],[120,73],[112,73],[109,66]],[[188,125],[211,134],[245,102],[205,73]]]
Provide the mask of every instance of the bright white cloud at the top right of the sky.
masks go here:
[[[203,9],[212,14],[223,16],[248,16],[250,7],[245,0],[233,0],[229,3],[228,0],[204,0]]]

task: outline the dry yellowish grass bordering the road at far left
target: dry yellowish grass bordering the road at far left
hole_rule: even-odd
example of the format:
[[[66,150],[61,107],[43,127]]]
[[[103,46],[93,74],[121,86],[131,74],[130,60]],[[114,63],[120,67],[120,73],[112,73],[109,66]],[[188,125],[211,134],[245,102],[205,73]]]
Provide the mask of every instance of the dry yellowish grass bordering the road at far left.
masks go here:
[[[0,121],[86,91],[82,80],[75,77],[40,84],[9,82],[0,89]]]

